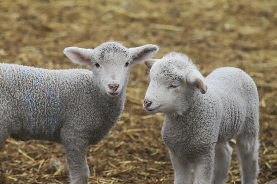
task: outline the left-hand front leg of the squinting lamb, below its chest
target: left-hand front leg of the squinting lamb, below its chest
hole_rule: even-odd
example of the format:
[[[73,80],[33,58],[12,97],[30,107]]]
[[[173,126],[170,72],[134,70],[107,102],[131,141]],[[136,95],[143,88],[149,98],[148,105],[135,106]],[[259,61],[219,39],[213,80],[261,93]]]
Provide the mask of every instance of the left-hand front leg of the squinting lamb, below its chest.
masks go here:
[[[169,153],[174,168],[174,184],[190,184],[191,163],[180,159],[171,151]]]

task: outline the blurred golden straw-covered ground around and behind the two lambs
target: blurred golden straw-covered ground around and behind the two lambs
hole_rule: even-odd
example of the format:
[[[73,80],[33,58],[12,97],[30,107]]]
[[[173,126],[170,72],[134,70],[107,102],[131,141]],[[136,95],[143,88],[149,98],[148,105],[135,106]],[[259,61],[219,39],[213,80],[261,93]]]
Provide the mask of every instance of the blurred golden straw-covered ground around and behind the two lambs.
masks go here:
[[[222,66],[245,70],[260,97],[258,180],[277,177],[277,1],[0,1],[1,62],[80,68],[62,50],[106,41],[126,47],[156,44],[155,58],[185,53],[204,76]],[[90,183],[173,183],[161,139],[163,115],[142,108],[147,72],[146,66],[132,67],[121,120],[106,139],[88,147]],[[67,182],[61,145],[13,139],[0,145],[0,183]],[[228,183],[240,183],[235,150]]]

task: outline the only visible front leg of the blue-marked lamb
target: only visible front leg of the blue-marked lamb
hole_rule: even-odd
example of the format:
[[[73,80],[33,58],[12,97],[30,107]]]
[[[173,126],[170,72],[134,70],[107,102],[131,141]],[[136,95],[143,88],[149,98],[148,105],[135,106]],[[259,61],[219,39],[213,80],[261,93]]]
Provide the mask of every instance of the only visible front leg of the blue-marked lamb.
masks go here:
[[[67,164],[70,169],[71,184],[87,184],[90,171],[86,158],[86,141],[76,135],[62,137]]]

